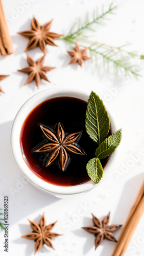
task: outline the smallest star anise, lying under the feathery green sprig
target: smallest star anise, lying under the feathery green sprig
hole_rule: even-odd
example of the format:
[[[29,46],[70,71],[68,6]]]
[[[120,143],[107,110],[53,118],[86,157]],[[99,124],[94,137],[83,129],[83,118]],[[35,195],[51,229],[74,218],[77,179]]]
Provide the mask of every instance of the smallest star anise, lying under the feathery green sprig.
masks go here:
[[[84,48],[81,50],[80,46],[76,42],[75,51],[67,51],[70,56],[72,56],[69,64],[78,62],[79,65],[82,67],[82,63],[86,59],[91,59],[91,57],[88,57],[85,53],[88,48]]]

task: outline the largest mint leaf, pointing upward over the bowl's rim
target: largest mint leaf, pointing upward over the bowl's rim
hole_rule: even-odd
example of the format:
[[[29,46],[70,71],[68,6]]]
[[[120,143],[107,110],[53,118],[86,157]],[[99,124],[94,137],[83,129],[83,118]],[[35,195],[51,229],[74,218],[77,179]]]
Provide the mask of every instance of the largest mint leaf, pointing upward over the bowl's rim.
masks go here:
[[[91,92],[88,100],[85,127],[90,138],[99,145],[105,140],[110,129],[110,119],[104,103],[94,92]]]

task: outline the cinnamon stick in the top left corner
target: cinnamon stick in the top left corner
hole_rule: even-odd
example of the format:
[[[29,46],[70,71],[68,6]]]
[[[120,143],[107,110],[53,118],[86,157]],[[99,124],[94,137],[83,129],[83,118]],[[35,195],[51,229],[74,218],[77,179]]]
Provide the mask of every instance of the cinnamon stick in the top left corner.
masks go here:
[[[14,53],[12,39],[9,34],[8,25],[5,19],[2,2],[0,0],[0,53],[2,56]]]

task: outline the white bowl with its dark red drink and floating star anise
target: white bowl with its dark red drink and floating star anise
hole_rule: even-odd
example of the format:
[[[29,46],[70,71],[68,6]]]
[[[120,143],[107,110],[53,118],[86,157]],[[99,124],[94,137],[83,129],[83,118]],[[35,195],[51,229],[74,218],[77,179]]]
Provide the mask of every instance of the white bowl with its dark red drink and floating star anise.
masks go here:
[[[44,90],[22,105],[12,125],[12,153],[22,174],[34,186],[59,198],[85,193],[99,185],[86,169],[98,147],[85,129],[89,95],[77,88]],[[107,111],[110,135],[117,131],[117,125]],[[101,182],[111,172],[117,154],[118,149],[101,160]]]

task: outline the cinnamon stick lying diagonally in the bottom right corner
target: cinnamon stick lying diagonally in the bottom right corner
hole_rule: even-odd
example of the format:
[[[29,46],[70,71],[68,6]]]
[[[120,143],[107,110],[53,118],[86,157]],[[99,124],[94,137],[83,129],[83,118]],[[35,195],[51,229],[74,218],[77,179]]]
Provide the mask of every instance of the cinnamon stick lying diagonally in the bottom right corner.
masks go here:
[[[130,211],[121,236],[115,246],[112,256],[123,256],[131,240],[133,232],[144,211],[144,182],[140,188],[136,201]]]

